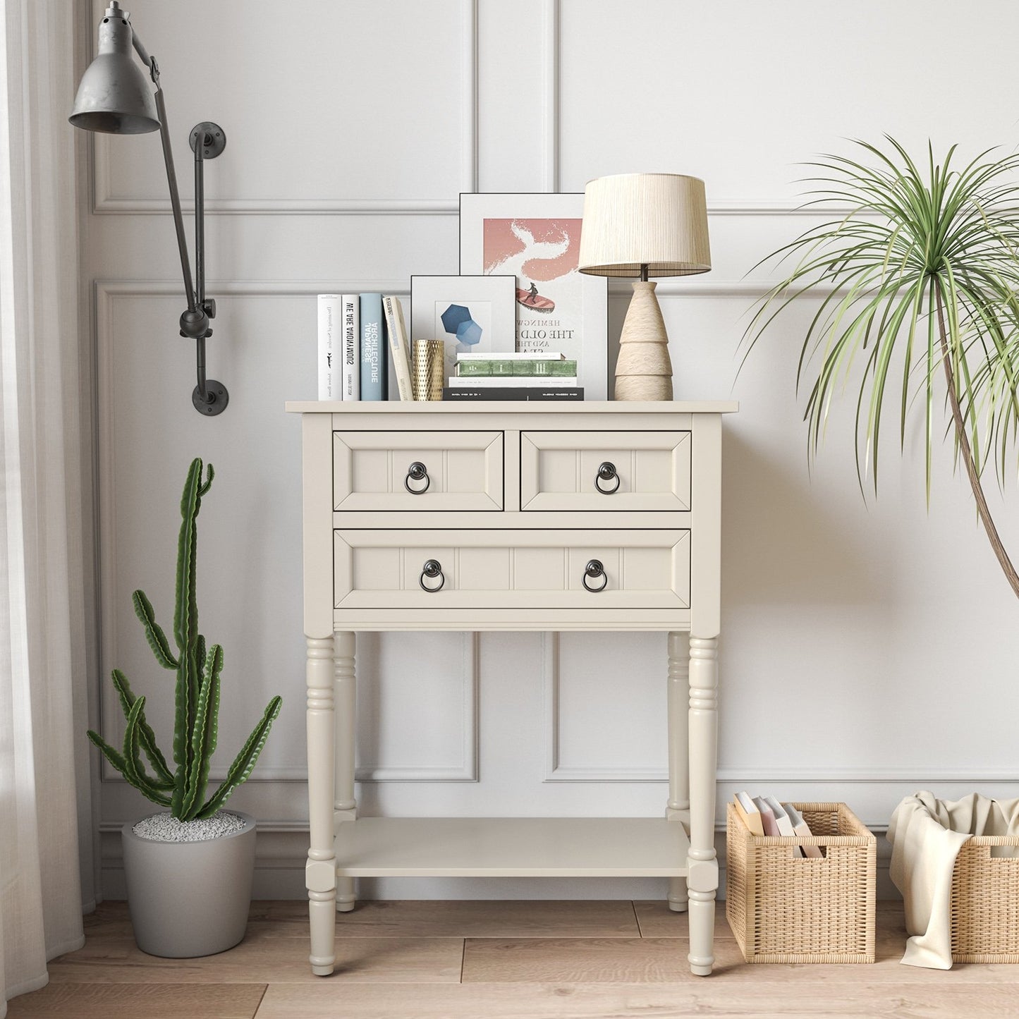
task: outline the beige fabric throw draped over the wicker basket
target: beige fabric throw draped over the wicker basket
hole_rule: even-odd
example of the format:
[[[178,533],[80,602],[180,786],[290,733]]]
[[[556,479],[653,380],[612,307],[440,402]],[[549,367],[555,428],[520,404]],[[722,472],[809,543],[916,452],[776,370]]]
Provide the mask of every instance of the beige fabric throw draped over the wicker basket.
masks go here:
[[[1019,835],[1019,800],[907,796],[889,825],[891,874],[906,905],[907,966],[952,968],[952,871],[970,836]],[[1000,855],[1016,855],[1007,847]]]

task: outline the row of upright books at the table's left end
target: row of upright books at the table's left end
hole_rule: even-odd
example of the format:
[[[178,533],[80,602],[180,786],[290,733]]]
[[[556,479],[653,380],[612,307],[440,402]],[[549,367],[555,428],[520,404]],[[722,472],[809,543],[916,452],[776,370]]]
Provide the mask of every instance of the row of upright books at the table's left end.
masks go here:
[[[387,399],[390,367],[399,398],[413,399],[411,356],[399,298],[320,293],[318,398]]]

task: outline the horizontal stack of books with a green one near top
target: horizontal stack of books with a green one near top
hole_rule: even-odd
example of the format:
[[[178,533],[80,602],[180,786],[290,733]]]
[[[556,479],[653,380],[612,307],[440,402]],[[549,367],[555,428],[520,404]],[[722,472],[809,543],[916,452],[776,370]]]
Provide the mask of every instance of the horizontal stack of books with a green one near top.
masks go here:
[[[577,362],[562,354],[458,354],[443,399],[583,399]]]

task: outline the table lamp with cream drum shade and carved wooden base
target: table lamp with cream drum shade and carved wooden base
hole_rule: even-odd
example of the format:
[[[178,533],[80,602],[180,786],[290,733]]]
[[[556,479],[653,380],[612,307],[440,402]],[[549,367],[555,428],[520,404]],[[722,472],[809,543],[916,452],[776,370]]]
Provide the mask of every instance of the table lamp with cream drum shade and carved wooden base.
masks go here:
[[[668,336],[652,276],[708,272],[704,181],[679,173],[618,173],[584,189],[580,271],[638,277],[615,363],[615,399],[672,399]]]

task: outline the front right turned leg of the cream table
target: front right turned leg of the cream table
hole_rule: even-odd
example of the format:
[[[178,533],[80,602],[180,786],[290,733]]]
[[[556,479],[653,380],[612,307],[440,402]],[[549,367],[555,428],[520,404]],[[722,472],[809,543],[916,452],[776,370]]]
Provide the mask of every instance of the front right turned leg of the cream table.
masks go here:
[[[714,963],[714,779],[718,756],[718,639],[690,637],[690,971]]]

